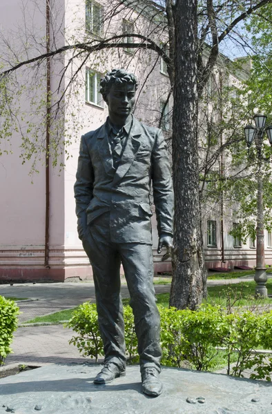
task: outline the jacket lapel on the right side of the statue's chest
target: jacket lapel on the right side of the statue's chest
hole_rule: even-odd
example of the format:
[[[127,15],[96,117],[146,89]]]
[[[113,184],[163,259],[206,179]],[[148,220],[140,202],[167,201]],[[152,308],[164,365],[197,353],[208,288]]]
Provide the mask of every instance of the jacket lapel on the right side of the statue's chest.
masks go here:
[[[126,172],[128,172],[131,164],[135,159],[135,156],[141,145],[141,135],[142,135],[142,126],[139,124],[139,121],[133,117],[133,126],[131,127],[130,134],[126,141],[126,147],[122,155],[122,159],[119,162],[119,166],[115,172],[115,177],[113,179],[113,184],[116,184],[120,181]]]

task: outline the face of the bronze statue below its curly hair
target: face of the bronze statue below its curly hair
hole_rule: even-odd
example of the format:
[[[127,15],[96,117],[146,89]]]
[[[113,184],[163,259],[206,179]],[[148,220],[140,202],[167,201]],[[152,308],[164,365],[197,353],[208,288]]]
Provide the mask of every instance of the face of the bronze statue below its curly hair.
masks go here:
[[[135,103],[135,92],[131,83],[113,85],[105,99],[110,117],[128,117]]]

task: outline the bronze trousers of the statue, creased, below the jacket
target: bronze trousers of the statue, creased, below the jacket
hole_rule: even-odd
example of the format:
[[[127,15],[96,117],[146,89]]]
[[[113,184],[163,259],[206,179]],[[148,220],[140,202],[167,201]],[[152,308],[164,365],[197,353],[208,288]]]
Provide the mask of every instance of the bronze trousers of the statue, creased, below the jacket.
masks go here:
[[[160,372],[159,311],[153,286],[152,246],[115,243],[110,240],[110,215],[104,213],[88,226],[82,243],[93,267],[99,331],[105,363],[126,367],[120,266],[124,268],[133,309],[141,370],[148,366]]]

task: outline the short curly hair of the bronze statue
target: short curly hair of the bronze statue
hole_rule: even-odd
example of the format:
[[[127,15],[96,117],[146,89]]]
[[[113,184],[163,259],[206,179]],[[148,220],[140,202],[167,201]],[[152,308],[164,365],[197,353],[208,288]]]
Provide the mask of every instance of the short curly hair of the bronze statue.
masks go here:
[[[134,73],[128,73],[125,69],[113,69],[111,72],[107,72],[104,78],[100,81],[100,93],[105,99],[110,92],[110,88],[116,84],[132,83],[137,90],[138,83]]]

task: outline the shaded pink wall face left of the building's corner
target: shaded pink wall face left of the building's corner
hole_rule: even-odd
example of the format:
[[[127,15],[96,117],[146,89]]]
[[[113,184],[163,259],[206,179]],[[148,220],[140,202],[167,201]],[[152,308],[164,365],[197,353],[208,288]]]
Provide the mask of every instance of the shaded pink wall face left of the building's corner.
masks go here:
[[[26,6],[26,7],[25,7]],[[41,6],[39,9],[38,6]],[[44,6],[44,7],[42,7]],[[45,37],[45,2],[37,4],[18,0],[3,0],[0,4],[0,30],[5,37],[14,42],[17,34],[23,41],[23,13],[27,23],[33,23],[36,28],[37,41]],[[18,29],[17,29],[18,28]],[[13,34],[8,35],[8,30]],[[17,31],[18,30],[18,31]],[[17,34],[16,34],[17,33]],[[18,38],[17,38],[18,40]],[[17,43],[18,49],[21,47]],[[16,49],[16,46],[14,46]],[[33,51],[35,54],[35,51]],[[39,79],[41,88],[46,87],[46,78]],[[54,79],[52,79],[54,87]],[[29,110],[28,91],[21,96],[21,107]],[[19,112],[20,113],[20,112]],[[27,119],[26,119],[27,121]],[[37,124],[39,119],[36,120]],[[25,131],[26,123],[21,123]],[[50,268],[45,268],[45,221],[46,221],[46,159],[38,161],[30,176],[30,162],[22,165],[21,137],[13,132],[11,146],[12,154],[3,154],[0,159],[0,282],[5,280],[63,280],[63,250],[64,250],[64,171],[50,169],[50,200],[54,206],[50,208]],[[1,146],[5,145],[1,143]],[[2,146],[3,148],[3,146]],[[59,273],[61,270],[61,273]]]

